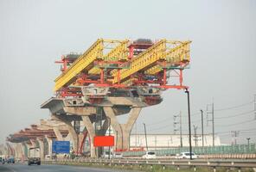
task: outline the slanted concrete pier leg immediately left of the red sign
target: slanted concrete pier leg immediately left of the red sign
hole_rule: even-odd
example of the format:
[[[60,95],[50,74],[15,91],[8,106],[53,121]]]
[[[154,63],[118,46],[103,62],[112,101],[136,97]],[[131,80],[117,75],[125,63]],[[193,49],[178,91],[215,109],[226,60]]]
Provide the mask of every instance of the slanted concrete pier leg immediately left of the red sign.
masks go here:
[[[90,120],[89,116],[82,116],[82,120],[84,125],[86,126],[86,130],[90,137],[90,145],[91,145],[91,157],[96,157],[95,147],[93,146],[93,138],[95,137],[95,131],[93,128],[93,122]]]

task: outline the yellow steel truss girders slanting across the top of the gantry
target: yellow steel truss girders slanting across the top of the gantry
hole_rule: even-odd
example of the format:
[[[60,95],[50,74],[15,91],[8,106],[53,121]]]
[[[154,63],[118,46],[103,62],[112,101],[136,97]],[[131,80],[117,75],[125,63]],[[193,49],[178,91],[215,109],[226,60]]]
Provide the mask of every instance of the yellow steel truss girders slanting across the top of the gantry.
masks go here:
[[[57,91],[62,87],[67,87],[75,82],[76,77],[85,72],[88,75],[99,75],[99,66],[94,66],[97,60],[119,61],[128,60],[128,43],[129,40],[97,40],[84,54],[82,54],[75,62],[64,71],[60,77],[55,79],[54,90]],[[130,67],[128,69],[113,69],[112,83],[131,84],[132,75],[138,71],[144,74],[154,75],[163,70],[164,66],[157,64],[158,61],[164,61],[175,67],[181,64],[189,64],[189,44],[191,41],[169,41],[160,40],[146,51],[138,54],[137,57],[131,58]],[[112,44],[110,51],[104,54],[105,50]],[[119,72],[119,74],[118,74]]]

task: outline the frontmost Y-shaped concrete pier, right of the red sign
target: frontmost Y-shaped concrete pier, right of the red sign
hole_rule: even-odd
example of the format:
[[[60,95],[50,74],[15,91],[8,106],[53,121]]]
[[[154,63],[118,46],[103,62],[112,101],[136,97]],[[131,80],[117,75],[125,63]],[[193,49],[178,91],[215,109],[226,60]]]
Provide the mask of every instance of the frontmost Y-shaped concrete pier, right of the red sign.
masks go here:
[[[128,150],[130,142],[130,133],[133,124],[138,118],[138,115],[142,107],[131,107],[131,112],[128,120],[125,124],[119,124],[115,112],[112,107],[104,107],[105,114],[111,119],[111,125],[116,133],[116,149],[117,150]]]

